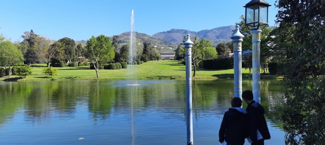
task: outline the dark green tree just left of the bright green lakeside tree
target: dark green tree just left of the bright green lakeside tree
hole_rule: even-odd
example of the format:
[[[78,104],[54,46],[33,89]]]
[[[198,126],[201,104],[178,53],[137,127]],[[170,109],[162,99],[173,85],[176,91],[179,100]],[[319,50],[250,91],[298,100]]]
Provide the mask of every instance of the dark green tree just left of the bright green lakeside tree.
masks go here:
[[[63,43],[65,46],[65,59],[73,60],[73,58],[76,58],[76,43],[73,39],[65,37],[58,40],[58,42]]]

